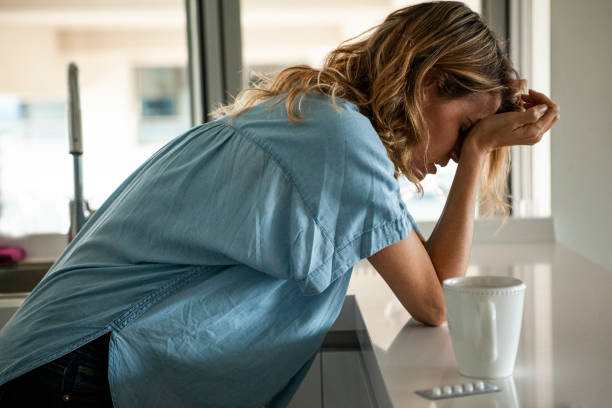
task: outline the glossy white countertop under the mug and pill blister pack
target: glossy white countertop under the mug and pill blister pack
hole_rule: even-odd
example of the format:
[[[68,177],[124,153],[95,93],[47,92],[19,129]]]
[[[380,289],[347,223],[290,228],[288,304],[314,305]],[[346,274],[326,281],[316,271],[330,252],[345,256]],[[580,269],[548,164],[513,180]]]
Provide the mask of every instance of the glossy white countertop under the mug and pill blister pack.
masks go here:
[[[354,295],[372,349],[368,372],[380,373],[393,407],[612,406],[612,271],[561,244],[475,245],[468,275],[506,275],[527,285],[514,376],[492,381],[499,393],[430,401],[416,390],[461,377],[448,327],[411,319],[367,261],[355,266]],[[376,364],[376,367],[373,366]],[[385,398],[383,398],[385,399]]]

